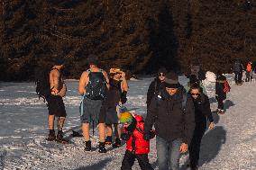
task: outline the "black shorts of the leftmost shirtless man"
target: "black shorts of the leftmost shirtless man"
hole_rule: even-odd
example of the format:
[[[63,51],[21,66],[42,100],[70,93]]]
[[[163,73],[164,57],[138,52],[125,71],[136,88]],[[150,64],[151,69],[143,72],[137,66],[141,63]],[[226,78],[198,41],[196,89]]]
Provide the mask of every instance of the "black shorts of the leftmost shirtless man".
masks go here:
[[[49,115],[55,115],[57,117],[66,117],[67,113],[62,97],[58,95],[50,95],[46,98]]]

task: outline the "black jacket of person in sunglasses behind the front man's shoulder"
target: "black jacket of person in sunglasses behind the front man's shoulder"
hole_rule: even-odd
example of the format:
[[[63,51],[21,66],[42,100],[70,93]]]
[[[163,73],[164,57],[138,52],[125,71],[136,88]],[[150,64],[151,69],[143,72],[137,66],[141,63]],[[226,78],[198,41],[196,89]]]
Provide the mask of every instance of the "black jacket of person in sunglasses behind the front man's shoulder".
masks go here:
[[[147,92],[147,108],[150,107],[151,100],[155,94],[160,93],[162,89],[164,88],[163,83],[160,82],[159,77],[156,77],[149,86],[148,92]]]

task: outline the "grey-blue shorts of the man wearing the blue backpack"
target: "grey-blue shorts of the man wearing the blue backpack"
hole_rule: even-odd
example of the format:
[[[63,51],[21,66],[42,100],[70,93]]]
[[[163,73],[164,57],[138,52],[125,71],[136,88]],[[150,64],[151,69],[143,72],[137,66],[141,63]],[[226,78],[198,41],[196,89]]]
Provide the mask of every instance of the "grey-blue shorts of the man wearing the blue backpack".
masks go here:
[[[80,104],[80,114],[82,123],[90,123],[92,121],[100,122],[99,115],[102,108],[102,100],[91,100],[85,97]]]

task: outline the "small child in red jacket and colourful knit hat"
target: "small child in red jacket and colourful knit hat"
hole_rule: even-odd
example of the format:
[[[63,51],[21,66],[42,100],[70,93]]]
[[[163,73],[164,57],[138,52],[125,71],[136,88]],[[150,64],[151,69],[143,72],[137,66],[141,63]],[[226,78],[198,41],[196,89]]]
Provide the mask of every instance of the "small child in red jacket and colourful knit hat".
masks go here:
[[[132,170],[135,158],[142,170],[153,170],[149,162],[150,140],[143,139],[144,121],[142,116],[130,112],[120,114],[120,122],[123,125],[121,138],[126,140],[126,151],[123,157],[121,170]],[[154,131],[151,130],[151,139]]]

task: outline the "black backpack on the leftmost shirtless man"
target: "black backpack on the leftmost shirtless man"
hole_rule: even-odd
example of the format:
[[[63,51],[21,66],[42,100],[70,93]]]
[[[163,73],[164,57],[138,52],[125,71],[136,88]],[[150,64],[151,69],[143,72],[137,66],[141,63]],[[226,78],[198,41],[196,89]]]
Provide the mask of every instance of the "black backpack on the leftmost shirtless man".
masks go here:
[[[39,67],[35,70],[35,92],[43,102],[50,95],[50,67]]]

